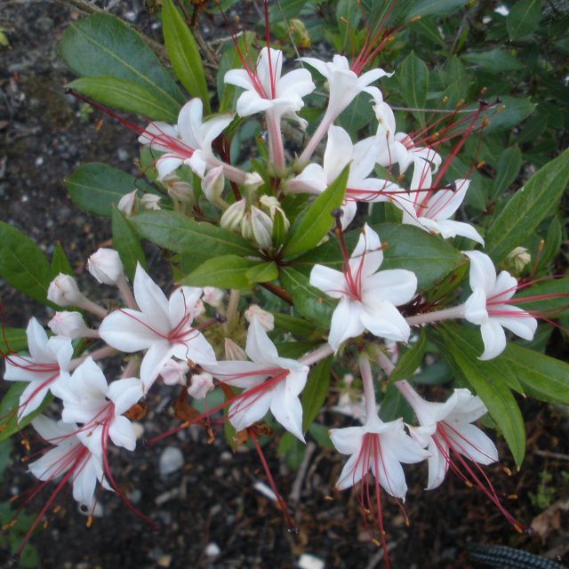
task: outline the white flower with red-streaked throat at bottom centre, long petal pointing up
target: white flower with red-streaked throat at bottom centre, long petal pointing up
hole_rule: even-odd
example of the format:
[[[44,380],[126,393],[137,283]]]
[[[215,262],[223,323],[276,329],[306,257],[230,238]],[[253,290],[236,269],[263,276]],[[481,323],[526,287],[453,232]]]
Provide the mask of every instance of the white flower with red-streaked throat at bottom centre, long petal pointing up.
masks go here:
[[[202,365],[207,373],[244,391],[229,407],[229,421],[237,430],[260,421],[270,409],[276,421],[295,437],[302,434],[302,406],[299,394],[306,385],[308,365],[279,357],[257,318],[247,331],[245,353],[252,361],[231,360]]]

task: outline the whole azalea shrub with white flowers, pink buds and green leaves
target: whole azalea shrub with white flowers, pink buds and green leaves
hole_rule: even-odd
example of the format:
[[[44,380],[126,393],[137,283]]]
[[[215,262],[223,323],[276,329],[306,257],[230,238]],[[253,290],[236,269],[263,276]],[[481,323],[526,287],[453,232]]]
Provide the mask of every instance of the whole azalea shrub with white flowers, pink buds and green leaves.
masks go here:
[[[185,4],[162,2],[168,62],[109,14],[61,41],[69,92],[140,152],[136,176],[84,164],[67,180],[76,206],[110,221],[112,247],[86,260],[100,293],[82,293],[61,246],[47,260],[0,224],[0,275],[53,310],[1,340],[0,438],[23,437],[32,495],[51,486],[21,547],[68,485],[89,520],[101,489],[134,509],[108,450],[140,445],[132,421],[160,389],[177,404],[150,443],[200,424],[251,445],[292,531],[260,437],[291,466],[307,437],[346,455],[331,487],[357,493],[386,565],[381,499],[405,501],[405,464],[426,463],[427,491],[459,477],[523,531],[484,467],[500,460],[493,437],[523,467],[519,396],[569,403],[569,365],[544,353],[565,334],[569,151],[540,148],[546,124],[522,154],[534,103],[467,71],[517,73],[516,56],[451,36],[462,2],[266,3],[261,30],[234,28],[226,3],[219,51]],[[504,6],[472,19],[513,42],[547,25]],[[413,36],[445,63],[429,70]],[[311,51],[327,41],[324,58]],[[326,434],[324,410],[345,426]]]

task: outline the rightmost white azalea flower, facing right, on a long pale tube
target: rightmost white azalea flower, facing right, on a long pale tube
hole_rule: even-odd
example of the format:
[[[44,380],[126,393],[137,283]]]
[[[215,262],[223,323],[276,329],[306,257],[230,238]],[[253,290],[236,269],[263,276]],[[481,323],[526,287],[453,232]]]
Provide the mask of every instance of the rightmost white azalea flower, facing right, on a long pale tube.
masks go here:
[[[533,340],[537,320],[511,304],[517,280],[505,270],[496,276],[493,262],[484,252],[465,251],[464,254],[470,259],[472,289],[464,305],[464,317],[480,326],[485,348],[480,359],[492,359],[506,348],[504,328],[524,340]]]

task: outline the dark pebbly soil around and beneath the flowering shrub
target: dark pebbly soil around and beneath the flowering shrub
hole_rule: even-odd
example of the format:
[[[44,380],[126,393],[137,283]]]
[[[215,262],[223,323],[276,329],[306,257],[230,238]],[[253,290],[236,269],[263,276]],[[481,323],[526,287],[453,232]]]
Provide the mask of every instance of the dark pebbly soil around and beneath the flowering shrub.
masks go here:
[[[141,2],[110,2],[112,12],[131,20],[149,36],[153,21]],[[0,28],[10,47],[0,52],[0,218],[24,230],[48,255],[60,242],[76,268],[108,241],[108,220],[94,219],[71,204],[64,179],[79,165],[100,161],[136,173],[135,136],[124,127],[89,113],[68,97],[63,85],[73,76],[61,62],[57,44],[77,12],[52,2],[4,0]],[[72,240],[70,237],[72,236]],[[150,272],[156,270],[156,259]],[[0,282],[6,325],[23,327],[32,316],[45,323],[46,309]],[[176,425],[167,409],[172,391],[153,393],[143,421],[144,436],[153,437]],[[504,463],[486,469],[504,504],[521,524],[546,512],[542,537],[520,534],[477,491],[450,476],[441,488],[424,492],[424,465],[406,469],[410,491],[404,510],[383,494],[383,516],[393,567],[429,569],[474,567],[469,543],[507,545],[558,561],[569,562],[569,418],[566,410],[520,401],[527,418],[527,457],[521,472],[499,439]],[[319,421],[328,427],[341,421],[325,413]],[[62,509],[50,515],[47,527],[32,543],[45,569],[150,569],[154,567],[237,567],[281,569],[299,566],[309,553],[326,567],[383,567],[383,556],[365,532],[357,497],[333,490],[344,458],[328,449],[310,446],[303,475],[287,468],[276,455],[276,442],[264,451],[276,486],[292,501],[298,533],[288,533],[274,502],[254,488],[267,484],[254,450],[232,453],[220,433],[208,444],[204,429],[194,426],[150,448],[110,457],[117,484],[135,508],[160,525],[154,531],[124,507],[116,495],[103,493],[90,528],[70,496]],[[180,449],[184,465],[160,476],[159,459],[167,447]],[[33,485],[19,463],[20,449],[4,476],[0,500]],[[504,467],[512,470],[507,476]],[[543,473],[549,473],[550,478]],[[298,478],[298,479],[297,479]],[[38,512],[51,488],[31,504]],[[546,495],[538,505],[532,494]],[[509,498],[507,498],[509,497]],[[564,505],[565,504],[565,505]],[[565,508],[565,509],[564,509]],[[0,535],[0,564],[10,563]],[[14,564],[14,566],[17,566]],[[317,567],[317,565],[306,565]],[[496,565],[499,566],[499,565]],[[519,567],[525,565],[517,565]]]

